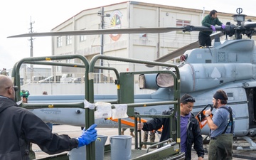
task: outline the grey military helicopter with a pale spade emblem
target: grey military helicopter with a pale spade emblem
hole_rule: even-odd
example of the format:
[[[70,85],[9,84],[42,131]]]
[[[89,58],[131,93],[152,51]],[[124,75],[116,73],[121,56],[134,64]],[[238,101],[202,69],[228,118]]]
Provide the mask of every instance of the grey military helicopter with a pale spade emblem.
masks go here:
[[[238,12],[238,10],[237,10]],[[216,90],[222,89],[228,95],[228,105],[233,107],[235,111],[235,137],[242,137],[249,144],[250,149],[256,149],[255,142],[251,137],[256,136],[256,48],[255,41],[252,39],[242,39],[242,36],[251,38],[255,36],[256,22],[245,21],[245,16],[241,13],[233,15],[234,21],[237,24],[227,23],[225,28],[216,26],[216,31],[220,33],[213,34],[212,38],[215,38],[214,45],[212,47],[197,48],[198,42],[184,46],[178,50],[175,50],[168,55],[164,55],[161,58],[156,59],[156,62],[166,62],[171,58],[176,58],[178,55],[182,56],[181,64],[178,65],[178,69],[181,75],[181,95],[188,93],[196,99],[196,103],[193,107],[193,112],[200,112],[203,107],[208,105],[213,98],[213,94]],[[46,32],[46,33],[26,33],[17,36],[10,36],[9,38],[18,37],[33,37],[33,36],[76,36],[76,35],[93,35],[93,34],[110,34],[110,33],[166,33],[171,31],[212,31],[211,28],[205,26],[183,26],[183,27],[166,27],[166,28],[119,28],[119,29],[102,29],[102,30],[85,30],[85,31],[61,31],[61,32]],[[234,40],[226,40],[220,42],[219,36],[224,34],[228,39],[228,36],[235,36]],[[184,50],[186,50],[184,52]],[[152,67],[154,65],[148,65]],[[165,70],[174,71],[173,68],[165,68]],[[175,71],[174,71],[175,72]],[[153,89],[156,92],[152,93],[149,97],[143,97],[141,95],[135,95],[135,102],[147,102],[149,100],[161,101],[169,100],[171,95],[170,90],[174,87],[174,82],[171,77],[166,74],[142,74],[140,75],[139,87],[141,89]],[[78,101],[83,100],[83,97],[68,95],[70,100]],[[73,98],[74,99],[73,99]],[[152,98],[153,97],[153,98]],[[59,98],[59,99],[58,99]],[[65,96],[60,96],[57,101],[68,100]],[[113,100],[116,97],[105,97],[105,100]],[[48,95],[47,100],[43,100],[42,96],[31,95],[30,101],[33,102],[51,102],[51,99],[56,100],[55,97]],[[95,96],[95,100],[102,100],[102,97]],[[168,110],[170,106],[164,105],[156,110],[161,114],[161,111]],[[151,109],[154,109],[152,107]],[[41,110],[41,111],[40,111]],[[82,126],[81,122],[84,122],[84,116],[82,110],[75,110],[74,114],[80,114],[81,119],[76,120],[70,115],[70,109],[61,109],[65,114],[55,119],[49,116],[49,113],[60,113],[60,109],[36,109],[33,110],[38,117],[43,120],[50,120],[53,122],[61,121],[63,124],[76,124]],[[144,112],[144,109],[137,109],[137,112]],[[213,114],[214,114],[213,110]],[[42,114],[44,112],[44,114]],[[149,111],[146,111],[149,112]],[[48,114],[47,114],[48,113]],[[61,117],[65,119],[60,120]],[[83,118],[82,118],[83,117]],[[108,119],[100,119],[99,124],[107,127],[108,124],[113,127],[114,122]],[[96,121],[95,121],[96,122]],[[106,125],[107,124],[107,125]],[[208,125],[203,127],[202,134],[209,134]]]

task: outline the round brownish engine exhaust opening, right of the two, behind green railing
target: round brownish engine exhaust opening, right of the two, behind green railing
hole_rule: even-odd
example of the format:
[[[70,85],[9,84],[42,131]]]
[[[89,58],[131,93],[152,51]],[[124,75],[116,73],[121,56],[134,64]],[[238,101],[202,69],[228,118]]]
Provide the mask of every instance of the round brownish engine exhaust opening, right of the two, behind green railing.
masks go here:
[[[159,87],[173,87],[174,86],[174,76],[169,73],[159,73],[156,76],[156,84]]]

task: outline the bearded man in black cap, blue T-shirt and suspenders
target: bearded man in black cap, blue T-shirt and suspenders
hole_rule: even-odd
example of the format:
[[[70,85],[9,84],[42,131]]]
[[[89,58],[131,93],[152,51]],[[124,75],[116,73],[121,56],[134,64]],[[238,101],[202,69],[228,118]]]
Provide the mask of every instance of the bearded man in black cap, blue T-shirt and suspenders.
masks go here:
[[[232,145],[235,124],[235,112],[227,105],[228,96],[223,90],[213,95],[213,107],[217,109],[213,119],[209,116],[210,109],[206,110],[206,119],[210,127],[210,144],[208,159],[233,159]]]

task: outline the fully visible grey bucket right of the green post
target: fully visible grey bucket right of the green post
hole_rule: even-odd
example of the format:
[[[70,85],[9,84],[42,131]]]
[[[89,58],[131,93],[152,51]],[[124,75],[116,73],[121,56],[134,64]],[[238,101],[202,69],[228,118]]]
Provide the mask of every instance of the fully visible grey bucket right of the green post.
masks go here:
[[[111,160],[129,160],[132,156],[132,136],[110,136]]]

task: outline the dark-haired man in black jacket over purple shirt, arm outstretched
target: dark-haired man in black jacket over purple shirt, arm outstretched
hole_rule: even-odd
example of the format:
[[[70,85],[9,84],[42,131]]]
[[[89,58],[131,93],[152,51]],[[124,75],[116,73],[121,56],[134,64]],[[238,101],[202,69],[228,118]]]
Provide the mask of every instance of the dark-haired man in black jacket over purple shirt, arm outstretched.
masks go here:
[[[204,150],[203,150],[203,137],[201,135],[201,129],[199,127],[198,121],[196,120],[193,113],[193,103],[196,100],[191,97],[191,95],[185,94],[181,97],[181,151],[185,152],[186,160],[191,159],[191,149],[196,150],[198,155],[198,160],[203,160]],[[163,114],[171,114],[174,109],[164,111]],[[150,119],[145,123],[138,124],[138,130],[152,131],[158,130],[163,127],[160,142],[170,138],[170,121],[169,118],[154,118]]]

